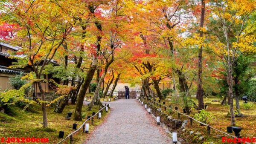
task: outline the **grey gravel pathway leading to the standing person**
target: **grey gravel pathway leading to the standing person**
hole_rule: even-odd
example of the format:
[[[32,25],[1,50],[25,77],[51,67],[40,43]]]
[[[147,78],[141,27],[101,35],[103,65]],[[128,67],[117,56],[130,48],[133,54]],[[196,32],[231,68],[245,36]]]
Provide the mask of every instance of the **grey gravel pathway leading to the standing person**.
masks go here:
[[[172,144],[156,121],[135,99],[111,102],[111,113],[85,144]]]

